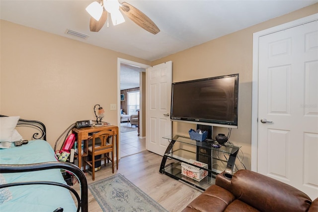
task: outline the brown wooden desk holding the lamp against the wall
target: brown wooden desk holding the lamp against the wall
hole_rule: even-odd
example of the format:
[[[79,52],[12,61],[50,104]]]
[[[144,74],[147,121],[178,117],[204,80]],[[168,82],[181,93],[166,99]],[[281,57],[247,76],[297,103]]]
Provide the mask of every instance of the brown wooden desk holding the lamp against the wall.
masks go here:
[[[87,156],[87,154],[81,154],[81,141],[88,139],[88,133],[100,132],[102,130],[112,130],[115,132],[116,139],[116,168],[118,169],[118,126],[115,125],[104,125],[104,126],[90,126],[84,128],[73,128],[72,133],[77,134],[78,138],[78,158],[79,168],[81,169],[81,157]],[[113,163],[113,162],[112,162]],[[85,164],[84,164],[85,165]]]

